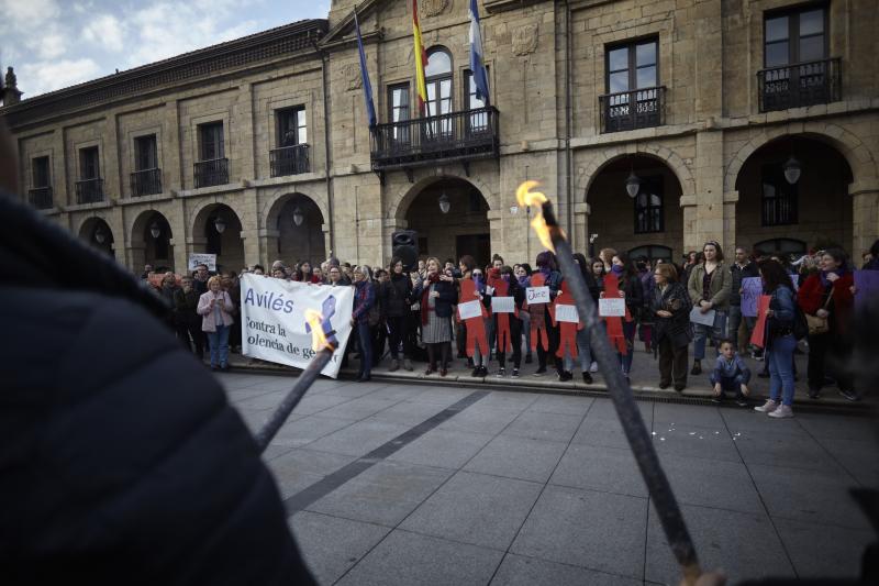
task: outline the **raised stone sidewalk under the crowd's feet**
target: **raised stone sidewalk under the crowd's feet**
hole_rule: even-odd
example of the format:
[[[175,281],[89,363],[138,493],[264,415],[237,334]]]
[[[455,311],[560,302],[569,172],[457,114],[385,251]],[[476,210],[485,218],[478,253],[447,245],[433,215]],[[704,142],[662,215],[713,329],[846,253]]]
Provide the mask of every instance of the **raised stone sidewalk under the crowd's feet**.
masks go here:
[[[711,356],[713,352],[714,349],[709,347],[706,354]],[[692,352],[690,353],[690,356],[692,357]],[[848,401],[837,394],[835,386],[824,387],[824,389],[822,389],[822,396],[820,399],[810,399],[805,385],[806,361],[808,355],[805,354],[798,354],[794,356],[797,372],[800,374],[800,378],[797,383],[797,392],[794,395],[794,405],[798,408],[867,412],[871,408],[879,406],[879,400],[877,400],[875,396],[865,397],[863,400],[857,402]],[[340,378],[353,378],[356,376],[357,361],[352,358],[351,362],[353,365],[355,365],[355,367],[342,369],[340,372]],[[764,362],[755,361],[750,357],[746,357],[745,362],[752,371],[752,380],[749,385],[750,400],[753,405],[758,405],[766,400],[769,396],[769,379],[757,376],[758,373],[763,371]],[[298,368],[272,364],[265,361],[255,361],[236,353],[230,353],[230,364],[233,369],[238,371],[274,372],[279,374],[294,374],[299,372]],[[692,365],[692,360],[690,364]],[[594,383],[591,385],[583,384],[579,369],[575,369],[574,380],[565,383],[561,383],[557,379],[555,372],[552,368],[549,368],[544,376],[534,376],[533,373],[537,369],[536,355],[533,364],[524,364],[523,357],[523,364],[520,369],[519,378],[512,378],[510,376],[512,368],[509,363],[505,377],[496,376],[498,371],[497,362],[491,362],[488,365],[489,376],[487,377],[470,376],[472,368],[467,368],[466,365],[466,360],[453,360],[448,375],[445,377],[439,377],[436,373],[431,376],[425,376],[424,371],[426,366],[424,363],[420,362],[413,362],[414,369],[411,373],[404,371],[403,368],[400,368],[394,373],[390,373],[388,372],[390,366],[390,357],[386,354],[381,363],[377,367],[372,368],[371,376],[372,379],[377,382],[430,384],[433,386],[446,385],[459,387],[461,385],[485,385],[487,388],[491,389],[526,390],[533,392],[586,395],[607,392],[607,385],[604,384],[604,378],[601,373],[594,373],[592,375]],[[659,373],[657,362],[654,360],[653,353],[645,352],[644,344],[638,342],[636,343],[635,356],[632,364],[632,390],[634,391],[635,396],[650,400],[706,403],[713,396],[713,391],[709,383],[709,375],[713,368],[713,358],[706,358],[702,361],[702,374],[697,376],[689,375],[688,386],[682,392],[677,392],[671,388],[664,390],[658,387]],[[727,398],[725,402],[735,405],[732,400],[732,397]]]

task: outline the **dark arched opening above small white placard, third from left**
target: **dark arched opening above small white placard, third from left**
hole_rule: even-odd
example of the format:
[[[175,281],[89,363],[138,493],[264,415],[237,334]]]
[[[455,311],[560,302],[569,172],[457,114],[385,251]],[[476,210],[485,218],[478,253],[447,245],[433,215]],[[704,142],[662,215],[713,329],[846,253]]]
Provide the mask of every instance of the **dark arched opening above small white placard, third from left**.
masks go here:
[[[216,255],[216,270],[238,272],[245,264],[242,224],[235,211],[224,203],[212,203],[199,211],[192,233],[197,244],[192,252]],[[198,243],[201,240],[201,243]]]

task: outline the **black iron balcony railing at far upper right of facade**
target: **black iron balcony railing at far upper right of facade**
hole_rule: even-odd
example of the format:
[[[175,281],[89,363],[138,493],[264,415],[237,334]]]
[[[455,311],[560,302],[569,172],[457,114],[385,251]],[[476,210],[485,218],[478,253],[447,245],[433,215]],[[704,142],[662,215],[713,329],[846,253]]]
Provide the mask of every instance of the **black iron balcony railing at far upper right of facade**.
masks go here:
[[[763,69],[757,81],[760,112],[830,103],[843,97],[839,57]]]

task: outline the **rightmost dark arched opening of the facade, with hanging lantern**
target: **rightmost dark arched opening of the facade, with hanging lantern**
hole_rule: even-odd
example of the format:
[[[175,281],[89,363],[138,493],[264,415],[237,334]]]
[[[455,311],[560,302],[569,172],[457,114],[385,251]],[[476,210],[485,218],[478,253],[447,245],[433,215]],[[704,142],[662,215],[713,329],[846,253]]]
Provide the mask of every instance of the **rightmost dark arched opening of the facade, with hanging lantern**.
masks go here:
[[[792,167],[785,173],[791,157],[799,162],[799,177]],[[764,252],[786,254],[831,245],[848,248],[849,183],[845,157],[820,140],[798,135],[767,143],[745,161],[736,178],[736,245],[759,244]],[[769,251],[774,243],[780,247]]]

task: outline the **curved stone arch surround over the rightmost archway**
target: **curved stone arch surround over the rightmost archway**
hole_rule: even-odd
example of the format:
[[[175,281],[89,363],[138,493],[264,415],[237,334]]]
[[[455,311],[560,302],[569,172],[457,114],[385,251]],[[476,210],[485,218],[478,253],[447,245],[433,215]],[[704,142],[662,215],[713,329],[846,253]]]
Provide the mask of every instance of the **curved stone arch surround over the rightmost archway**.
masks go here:
[[[798,131],[798,128],[800,129]],[[852,169],[854,181],[876,183],[876,159],[869,147],[857,135],[848,130],[828,122],[806,122],[804,124],[785,124],[767,129],[765,132],[754,136],[736,151],[730,159],[726,173],[723,177],[724,192],[736,190],[736,181],[745,162],[763,146],[783,136],[803,136],[821,141],[845,157]]]

